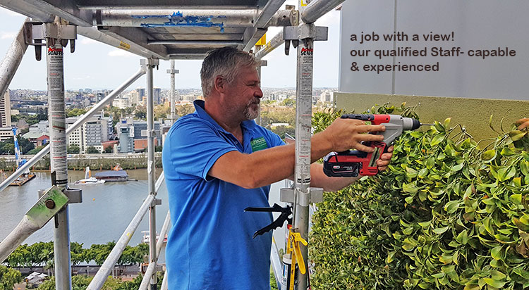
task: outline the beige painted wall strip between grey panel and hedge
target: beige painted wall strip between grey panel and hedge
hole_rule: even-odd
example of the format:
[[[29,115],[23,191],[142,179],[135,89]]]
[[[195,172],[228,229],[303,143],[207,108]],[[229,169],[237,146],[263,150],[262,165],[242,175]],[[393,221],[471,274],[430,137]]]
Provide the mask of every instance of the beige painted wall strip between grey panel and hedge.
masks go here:
[[[466,127],[474,139],[480,140],[497,137],[497,133],[490,130],[489,118],[494,115],[492,125],[500,131],[501,118],[504,119],[504,130],[509,131],[510,125],[520,118],[529,118],[529,101],[510,101],[497,99],[466,99],[441,96],[404,96],[389,94],[350,94],[335,93],[336,108],[363,113],[375,104],[391,103],[400,106],[415,106],[420,103],[417,113],[422,122],[430,123],[434,120],[442,122],[451,117],[451,126],[461,124]]]

